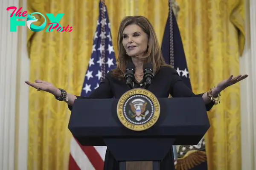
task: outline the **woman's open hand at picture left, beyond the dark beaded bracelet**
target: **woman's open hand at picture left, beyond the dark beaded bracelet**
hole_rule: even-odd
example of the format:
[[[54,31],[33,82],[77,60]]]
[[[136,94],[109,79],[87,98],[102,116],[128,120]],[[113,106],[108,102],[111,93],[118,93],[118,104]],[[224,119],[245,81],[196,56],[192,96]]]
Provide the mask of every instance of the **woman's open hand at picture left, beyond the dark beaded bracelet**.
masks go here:
[[[61,91],[58,88],[55,88],[54,85],[50,82],[42,81],[42,80],[35,80],[34,83],[25,81],[26,84],[36,88],[38,91],[46,91],[48,93],[53,94],[54,96],[61,96]]]

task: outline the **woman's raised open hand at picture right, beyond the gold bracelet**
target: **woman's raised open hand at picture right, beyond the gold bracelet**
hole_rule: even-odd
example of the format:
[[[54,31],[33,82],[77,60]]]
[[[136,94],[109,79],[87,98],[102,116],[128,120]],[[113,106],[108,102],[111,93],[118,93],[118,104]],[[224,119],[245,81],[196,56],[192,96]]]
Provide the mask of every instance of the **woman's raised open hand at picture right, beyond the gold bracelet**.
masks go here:
[[[243,80],[243,79],[245,79],[247,77],[248,77],[247,74],[239,75],[237,77],[233,77],[233,75],[231,75],[230,78],[224,79],[221,82],[219,82],[216,88],[218,89],[219,92],[221,92],[225,88],[229,87],[230,85],[234,85],[237,82],[240,82],[241,80]]]

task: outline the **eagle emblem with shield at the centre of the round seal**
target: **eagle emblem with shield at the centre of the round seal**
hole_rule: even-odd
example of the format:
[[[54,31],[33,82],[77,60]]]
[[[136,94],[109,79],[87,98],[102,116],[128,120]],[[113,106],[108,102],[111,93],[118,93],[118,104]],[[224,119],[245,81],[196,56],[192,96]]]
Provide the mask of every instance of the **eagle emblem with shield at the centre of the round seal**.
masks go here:
[[[132,111],[132,115],[131,117],[134,118],[137,120],[137,121],[140,121],[141,119],[145,119],[145,116],[147,116],[148,112],[149,111],[146,111],[146,106],[147,106],[147,102],[143,103],[143,105],[133,105],[132,103],[129,103],[130,106],[131,106],[131,111]]]

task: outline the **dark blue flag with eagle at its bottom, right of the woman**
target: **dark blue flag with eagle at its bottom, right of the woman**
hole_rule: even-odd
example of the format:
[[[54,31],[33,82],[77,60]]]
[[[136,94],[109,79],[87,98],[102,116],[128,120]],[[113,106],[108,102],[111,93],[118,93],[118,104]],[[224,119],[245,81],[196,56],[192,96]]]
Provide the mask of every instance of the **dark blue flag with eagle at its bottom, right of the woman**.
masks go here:
[[[172,25],[171,27],[170,23]],[[173,43],[171,43],[171,41]],[[170,44],[172,44],[172,47]],[[170,0],[169,16],[166,22],[162,41],[162,53],[166,63],[171,64],[176,69],[182,81],[192,90],[180,30],[177,25],[175,15],[172,11],[172,7],[170,7]],[[189,154],[185,158],[184,155],[191,150],[194,151],[192,153],[194,156]],[[205,160],[206,158],[202,159],[202,157],[206,157],[206,154],[204,156],[195,156],[196,153],[199,153],[198,151],[203,151],[204,153],[206,152],[204,137],[201,139],[198,145],[181,145],[179,146],[178,150],[176,149],[176,146],[173,146],[176,168],[184,170],[207,170],[207,160]]]

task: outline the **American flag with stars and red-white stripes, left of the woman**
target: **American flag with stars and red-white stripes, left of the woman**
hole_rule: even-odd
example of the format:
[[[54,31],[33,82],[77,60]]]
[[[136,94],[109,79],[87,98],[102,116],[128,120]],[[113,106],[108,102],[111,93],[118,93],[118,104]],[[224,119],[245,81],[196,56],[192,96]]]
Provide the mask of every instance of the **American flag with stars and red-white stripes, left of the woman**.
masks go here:
[[[100,0],[99,17],[93,36],[93,47],[84,77],[81,96],[89,96],[105,75],[116,68],[116,58],[111,39],[108,11]],[[81,146],[72,137],[69,170],[103,170],[106,146]]]

